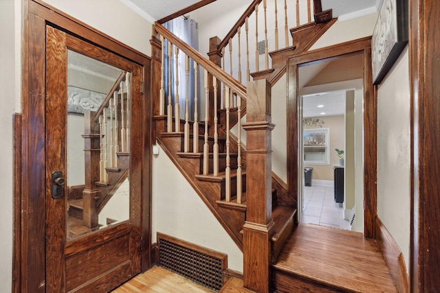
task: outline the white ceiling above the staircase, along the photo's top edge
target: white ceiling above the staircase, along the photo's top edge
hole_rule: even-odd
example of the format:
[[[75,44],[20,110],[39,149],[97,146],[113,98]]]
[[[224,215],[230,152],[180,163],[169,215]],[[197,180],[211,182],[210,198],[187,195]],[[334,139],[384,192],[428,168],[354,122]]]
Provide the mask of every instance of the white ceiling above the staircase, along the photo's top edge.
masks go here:
[[[157,21],[179,10],[197,3],[197,0],[120,0],[148,21]],[[222,0],[217,0],[222,1]],[[280,0],[278,0],[280,1]],[[241,0],[234,1],[237,7]],[[378,11],[382,0],[322,0],[322,10],[333,9],[333,17],[353,18]],[[209,5],[209,4],[208,4]],[[229,4],[230,5],[230,4]],[[231,8],[231,7],[230,7]],[[217,11],[212,11],[213,14]]]

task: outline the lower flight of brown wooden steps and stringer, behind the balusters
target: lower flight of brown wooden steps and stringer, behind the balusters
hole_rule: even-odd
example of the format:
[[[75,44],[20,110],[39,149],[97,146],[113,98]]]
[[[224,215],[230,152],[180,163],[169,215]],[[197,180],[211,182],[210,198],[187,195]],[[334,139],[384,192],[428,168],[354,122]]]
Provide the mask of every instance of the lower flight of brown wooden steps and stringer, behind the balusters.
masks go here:
[[[184,121],[181,121],[183,124]],[[212,162],[208,175],[203,175],[203,154],[185,153],[183,148],[184,132],[165,132],[165,117],[155,117],[155,129],[157,132],[157,142],[162,146],[164,152],[175,163],[176,167],[184,174],[190,185],[197,191],[203,202],[214,216],[222,224],[225,231],[234,240],[237,246],[243,250],[243,224],[246,220],[246,195],[245,182],[246,172],[243,165],[243,196],[242,202],[236,202],[236,189],[232,188],[232,199],[225,200],[225,139],[219,137],[219,174],[212,174]],[[199,145],[203,145],[204,137],[199,135]],[[214,137],[209,137],[210,158],[212,158],[212,148]],[[192,148],[192,145],[190,145]],[[236,144],[235,144],[236,148]],[[236,165],[236,154],[230,154],[231,164]],[[236,172],[232,171],[232,186],[235,186]],[[279,199],[277,189],[272,190],[274,202],[283,202]],[[285,191],[281,191],[285,194]],[[278,199],[277,199],[278,198]],[[274,222],[276,224],[275,235],[272,237],[274,255],[278,255],[281,250],[282,242],[287,238],[295,224],[296,207],[274,204],[273,211]]]

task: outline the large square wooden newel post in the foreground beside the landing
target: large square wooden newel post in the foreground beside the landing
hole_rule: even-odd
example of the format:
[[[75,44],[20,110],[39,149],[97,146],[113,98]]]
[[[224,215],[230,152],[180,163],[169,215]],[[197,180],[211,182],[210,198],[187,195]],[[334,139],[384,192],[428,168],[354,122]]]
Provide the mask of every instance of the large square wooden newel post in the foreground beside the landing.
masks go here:
[[[270,292],[272,220],[271,86],[248,82],[246,130],[246,222],[243,226],[245,288]]]

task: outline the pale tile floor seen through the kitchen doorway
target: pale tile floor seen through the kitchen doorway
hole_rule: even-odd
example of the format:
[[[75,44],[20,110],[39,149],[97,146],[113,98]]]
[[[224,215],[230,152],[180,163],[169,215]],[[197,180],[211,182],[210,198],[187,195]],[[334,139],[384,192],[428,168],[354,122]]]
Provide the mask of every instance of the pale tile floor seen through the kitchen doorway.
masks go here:
[[[333,197],[333,187],[305,186],[302,222],[351,230],[349,221],[344,220],[342,204]]]

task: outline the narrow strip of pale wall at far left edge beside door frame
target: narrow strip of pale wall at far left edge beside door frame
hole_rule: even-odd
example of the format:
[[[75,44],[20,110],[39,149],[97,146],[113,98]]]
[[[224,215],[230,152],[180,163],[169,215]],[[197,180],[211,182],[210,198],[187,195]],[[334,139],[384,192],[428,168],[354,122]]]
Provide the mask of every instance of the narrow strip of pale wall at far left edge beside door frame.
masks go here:
[[[17,15],[20,15],[19,10],[16,11],[17,5],[19,3],[14,0],[0,1],[0,284],[2,290],[5,290],[3,292],[12,290],[12,114],[16,112],[16,104],[19,104],[16,102],[19,99],[16,89],[20,87],[20,83],[16,84],[17,76],[20,76],[16,66],[20,62],[20,59],[16,60],[16,44],[19,38],[16,32],[20,32],[20,27],[15,27]]]

